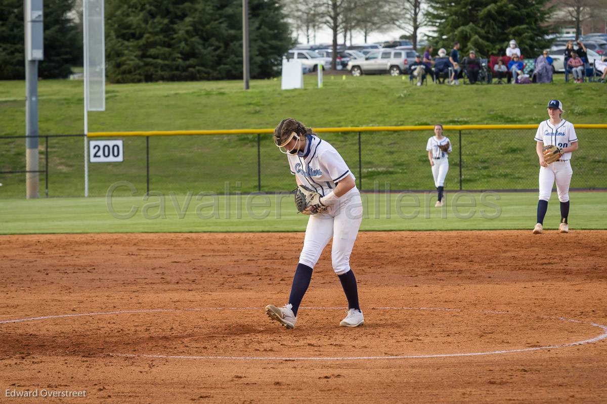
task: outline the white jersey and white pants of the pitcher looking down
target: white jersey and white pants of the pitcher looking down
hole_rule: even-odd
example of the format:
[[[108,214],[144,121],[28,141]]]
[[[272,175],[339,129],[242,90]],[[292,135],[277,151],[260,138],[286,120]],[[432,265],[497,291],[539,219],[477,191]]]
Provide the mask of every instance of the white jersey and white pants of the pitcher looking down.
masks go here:
[[[304,152],[288,155],[291,173],[302,184],[316,189],[321,195],[327,195],[348,175],[354,178],[344,159],[331,144],[314,135],[306,136]],[[338,198],[326,212],[310,215],[299,262],[314,268],[325,246],[333,238],[333,271],[337,275],[350,271],[350,255],[361,221],[361,194],[354,187]]]

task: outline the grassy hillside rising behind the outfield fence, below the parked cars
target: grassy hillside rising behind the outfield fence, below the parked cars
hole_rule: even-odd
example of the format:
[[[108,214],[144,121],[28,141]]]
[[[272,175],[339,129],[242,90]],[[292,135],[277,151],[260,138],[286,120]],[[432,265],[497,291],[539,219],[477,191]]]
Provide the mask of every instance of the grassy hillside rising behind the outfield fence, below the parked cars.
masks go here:
[[[347,73],[305,76],[305,89],[280,90],[280,80],[160,82],[109,84],[106,112],[90,113],[89,130],[234,129],[273,127],[293,116],[313,126],[514,124],[546,118],[548,99],[560,98],[566,118],[574,123],[604,123],[607,107],[600,83],[555,82],[530,86],[416,87],[409,79]],[[24,82],[0,81],[0,133],[24,131]],[[82,82],[39,82],[40,133],[80,133],[83,127]],[[342,153],[363,189],[427,189],[432,186],[424,151],[431,132],[363,133],[362,172],[358,170],[356,133],[322,135]],[[447,183],[458,185],[458,133],[453,141],[452,169]],[[464,133],[464,189],[532,189],[537,187],[534,130]],[[572,187],[607,187],[606,131],[580,131]],[[261,137],[262,190],[290,189],[286,159],[269,135]],[[223,192],[225,182],[239,190],[257,190],[257,136],[174,136],[150,140],[151,189],[186,194],[189,190]],[[41,163],[45,145],[40,143]],[[0,139],[0,170],[25,169],[24,140]],[[49,143],[49,195],[79,197],[84,193],[82,138],[52,138]],[[90,165],[90,195],[104,195],[110,184],[131,181],[145,189],[145,140],[125,139],[125,161]],[[44,176],[41,184],[44,184]],[[1,175],[0,198],[23,198],[25,175]],[[41,186],[44,194],[44,186]]]

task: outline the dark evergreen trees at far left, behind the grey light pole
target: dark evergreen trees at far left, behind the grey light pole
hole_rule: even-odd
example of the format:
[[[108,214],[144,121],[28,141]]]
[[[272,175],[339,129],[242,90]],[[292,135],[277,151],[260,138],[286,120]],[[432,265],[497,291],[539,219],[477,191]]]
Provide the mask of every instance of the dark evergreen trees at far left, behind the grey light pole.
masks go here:
[[[65,78],[82,63],[82,37],[69,17],[75,0],[44,1],[42,78]],[[25,78],[23,0],[0,1],[0,79]]]

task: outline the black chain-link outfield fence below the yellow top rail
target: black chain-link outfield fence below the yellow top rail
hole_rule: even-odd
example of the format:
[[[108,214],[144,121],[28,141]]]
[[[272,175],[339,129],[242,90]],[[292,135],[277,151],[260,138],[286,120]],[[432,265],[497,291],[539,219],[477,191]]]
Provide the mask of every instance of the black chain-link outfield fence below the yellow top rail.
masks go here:
[[[573,189],[607,189],[607,129],[576,129]],[[431,130],[320,133],[356,176],[362,190],[430,190],[426,151]],[[447,189],[523,190],[538,187],[535,129],[445,130],[453,147]],[[41,197],[84,195],[82,136],[41,136]],[[95,140],[101,138],[95,138]],[[106,195],[117,181],[137,194],[280,192],[294,188],[287,158],[270,134],[125,136],[123,163],[89,164],[89,195]],[[0,138],[0,198],[25,196],[25,141]],[[47,154],[48,153],[48,154]],[[48,167],[45,169],[48,158]],[[131,195],[121,187],[118,195]]]

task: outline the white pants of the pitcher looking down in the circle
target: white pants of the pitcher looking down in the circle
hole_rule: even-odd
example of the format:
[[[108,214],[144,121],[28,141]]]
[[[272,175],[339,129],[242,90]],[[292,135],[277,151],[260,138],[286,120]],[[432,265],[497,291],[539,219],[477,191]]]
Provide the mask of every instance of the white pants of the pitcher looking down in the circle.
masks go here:
[[[350,271],[350,254],[362,221],[362,200],[354,187],[342,195],[327,212],[310,215],[305,229],[304,248],[299,262],[314,268],[320,254],[333,237],[331,260],[337,275]]]

